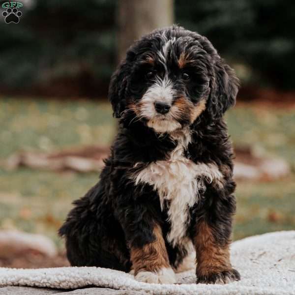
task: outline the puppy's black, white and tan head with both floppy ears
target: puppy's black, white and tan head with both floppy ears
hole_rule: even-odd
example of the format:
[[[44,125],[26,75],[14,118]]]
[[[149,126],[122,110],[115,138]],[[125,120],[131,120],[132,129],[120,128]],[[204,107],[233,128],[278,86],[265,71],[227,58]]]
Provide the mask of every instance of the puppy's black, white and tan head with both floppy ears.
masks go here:
[[[169,133],[203,112],[221,118],[235,104],[237,90],[234,71],[207,38],[173,26],[130,47],[112,76],[109,98],[117,118]]]

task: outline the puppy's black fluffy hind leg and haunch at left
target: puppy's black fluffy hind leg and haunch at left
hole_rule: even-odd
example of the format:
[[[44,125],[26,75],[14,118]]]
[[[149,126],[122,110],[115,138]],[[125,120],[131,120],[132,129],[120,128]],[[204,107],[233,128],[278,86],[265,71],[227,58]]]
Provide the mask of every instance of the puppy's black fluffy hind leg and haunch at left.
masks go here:
[[[91,190],[93,192],[94,188]],[[91,209],[89,193],[74,205],[59,229],[59,235],[66,239],[70,264],[129,271],[129,251],[118,221],[106,207],[93,210],[92,206]]]

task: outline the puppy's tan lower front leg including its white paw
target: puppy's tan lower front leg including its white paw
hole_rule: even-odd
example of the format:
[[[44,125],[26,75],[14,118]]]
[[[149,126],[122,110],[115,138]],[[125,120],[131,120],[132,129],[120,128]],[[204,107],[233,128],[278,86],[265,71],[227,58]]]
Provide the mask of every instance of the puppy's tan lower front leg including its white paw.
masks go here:
[[[153,227],[154,240],[142,246],[131,246],[130,258],[135,278],[146,283],[173,284],[175,273],[169,258],[159,225]]]

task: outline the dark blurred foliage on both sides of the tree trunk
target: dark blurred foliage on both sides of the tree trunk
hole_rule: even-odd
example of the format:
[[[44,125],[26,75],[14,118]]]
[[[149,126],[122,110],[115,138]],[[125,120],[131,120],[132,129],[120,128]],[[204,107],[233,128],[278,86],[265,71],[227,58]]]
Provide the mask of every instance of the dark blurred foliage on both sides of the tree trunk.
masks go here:
[[[0,88],[105,94],[116,64],[116,6],[117,0],[35,0],[19,24],[2,20]],[[292,0],[175,0],[175,22],[206,35],[252,84],[294,89],[294,19]]]

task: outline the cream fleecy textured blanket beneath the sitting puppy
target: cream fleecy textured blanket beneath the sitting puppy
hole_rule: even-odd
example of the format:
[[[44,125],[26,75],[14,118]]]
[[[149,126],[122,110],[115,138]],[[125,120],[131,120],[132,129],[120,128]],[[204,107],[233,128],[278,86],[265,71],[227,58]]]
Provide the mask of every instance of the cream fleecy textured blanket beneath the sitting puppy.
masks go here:
[[[232,244],[231,255],[232,264],[242,279],[228,285],[196,285],[193,270],[177,274],[178,284],[158,285],[137,282],[131,274],[112,269],[59,267],[0,268],[0,287],[76,289],[94,285],[125,290],[124,294],[295,295],[295,231],[244,238]],[[87,290],[93,289],[86,289],[83,294],[87,294]]]

